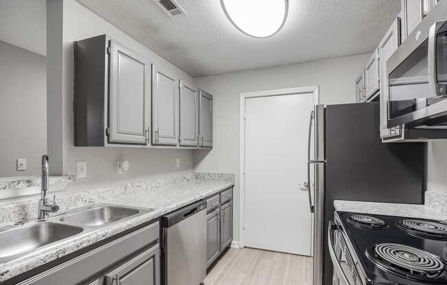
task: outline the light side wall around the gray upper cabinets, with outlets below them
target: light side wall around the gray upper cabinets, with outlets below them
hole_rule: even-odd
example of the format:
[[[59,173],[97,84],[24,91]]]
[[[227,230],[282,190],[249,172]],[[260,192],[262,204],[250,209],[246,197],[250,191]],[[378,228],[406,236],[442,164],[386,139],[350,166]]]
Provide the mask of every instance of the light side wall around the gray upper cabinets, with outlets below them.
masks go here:
[[[56,2],[56,3],[54,3]],[[48,1],[53,5],[53,14],[58,12],[58,1]],[[51,8],[51,7],[50,7]],[[84,8],[74,0],[64,0],[62,4],[63,26],[62,26],[62,126],[54,126],[49,129],[49,139],[56,140],[55,145],[62,143],[62,169],[52,169],[53,173],[64,173],[75,175],[76,161],[87,162],[87,177],[77,179],[69,184],[69,188],[77,188],[86,184],[104,184],[130,179],[131,177],[158,176],[174,173],[185,173],[193,171],[193,151],[188,149],[135,149],[117,147],[74,147],[73,133],[73,41],[90,38],[101,34],[108,34],[114,40],[121,42],[145,56],[151,62],[162,66],[173,76],[180,77],[186,81],[193,82],[193,78],[173,66],[171,63],[160,58],[147,47],[136,42],[127,34],[121,32],[103,18],[100,18],[90,10]],[[58,21],[56,16],[56,22]],[[49,29],[51,26],[49,24]],[[56,25],[57,27],[57,25]],[[57,32],[57,31],[56,31]],[[51,34],[48,33],[49,38]],[[57,47],[53,45],[53,47]],[[50,48],[50,47],[49,47]],[[49,56],[56,53],[48,53]],[[57,64],[57,60],[55,60]],[[58,114],[56,114],[58,116]],[[49,119],[51,120],[51,118]],[[59,133],[60,129],[62,132]],[[54,135],[54,136],[53,136]],[[55,155],[57,159],[57,153]],[[176,158],[180,158],[180,168],[176,167]],[[129,160],[130,171],[125,175],[117,175],[117,160]],[[56,163],[56,162],[55,162]],[[51,170],[51,157],[50,157]]]

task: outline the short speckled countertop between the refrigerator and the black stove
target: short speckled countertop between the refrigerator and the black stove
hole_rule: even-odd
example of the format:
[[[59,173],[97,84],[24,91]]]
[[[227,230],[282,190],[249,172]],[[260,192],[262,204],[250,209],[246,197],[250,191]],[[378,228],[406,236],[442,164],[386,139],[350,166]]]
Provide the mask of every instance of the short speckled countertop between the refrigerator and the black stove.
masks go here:
[[[334,207],[342,212],[447,220],[447,195],[433,191],[426,191],[424,205],[335,200]]]

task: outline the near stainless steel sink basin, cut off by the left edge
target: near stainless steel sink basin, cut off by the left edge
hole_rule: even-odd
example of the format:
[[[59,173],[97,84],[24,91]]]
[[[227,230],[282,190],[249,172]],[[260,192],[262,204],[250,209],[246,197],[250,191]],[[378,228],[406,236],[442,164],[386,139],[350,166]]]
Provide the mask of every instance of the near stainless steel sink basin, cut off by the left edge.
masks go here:
[[[0,259],[27,253],[80,232],[82,232],[82,227],[49,222],[25,225],[0,232]]]

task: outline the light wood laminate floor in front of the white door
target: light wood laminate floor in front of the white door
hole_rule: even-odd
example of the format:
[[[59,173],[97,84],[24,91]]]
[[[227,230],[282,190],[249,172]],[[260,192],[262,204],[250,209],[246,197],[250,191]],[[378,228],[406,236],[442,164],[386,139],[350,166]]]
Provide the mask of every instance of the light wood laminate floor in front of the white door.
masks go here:
[[[230,248],[208,272],[205,285],[312,285],[313,258]]]

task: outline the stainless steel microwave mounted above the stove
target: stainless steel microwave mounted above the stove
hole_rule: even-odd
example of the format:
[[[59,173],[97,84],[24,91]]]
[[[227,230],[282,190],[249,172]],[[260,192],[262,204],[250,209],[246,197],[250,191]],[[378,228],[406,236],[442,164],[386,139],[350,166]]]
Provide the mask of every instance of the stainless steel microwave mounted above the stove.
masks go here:
[[[387,61],[387,125],[447,127],[447,1],[439,1]]]

